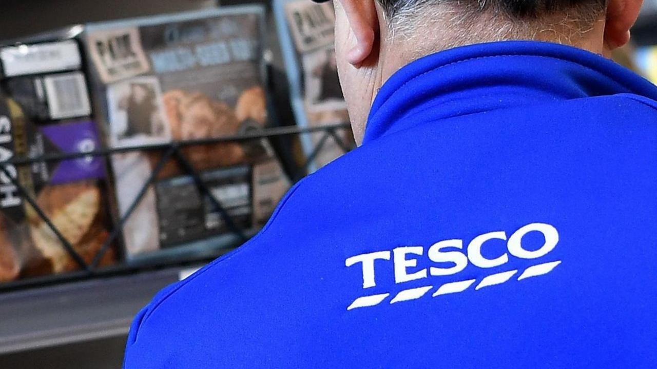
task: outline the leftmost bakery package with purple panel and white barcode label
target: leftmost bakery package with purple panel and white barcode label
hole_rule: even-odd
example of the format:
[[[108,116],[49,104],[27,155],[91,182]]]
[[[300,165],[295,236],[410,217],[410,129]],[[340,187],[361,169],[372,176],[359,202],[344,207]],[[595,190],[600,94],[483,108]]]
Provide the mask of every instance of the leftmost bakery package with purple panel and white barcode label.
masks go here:
[[[13,188],[5,193],[15,196],[7,198],[15,200],[11,203],[15,206],[2,209],[0,253],[8,258],[13,255],[16,260],[11,273],[7,273],[11,263],[0,263],[0,269],[5,269],[0,271],[0,279],[3,275],[7,280],[81,268],[26,196],[34,199],[66,238],[78,260],[92,263],[108,239],[111,225],[104,160],[81,156],[38,161],[43,156],[85,153],[101,147],[76,39],[80,31],[80,26],[74,26],[0,47],[0,119],[6,125],[5,137],[11,138],[3,147],[1,160],[37,160],[5,166],[25,193],[7,173],[0,175],[3,185]],[[108,264],[116,252],[108,248],[102,255],[101,264]]]

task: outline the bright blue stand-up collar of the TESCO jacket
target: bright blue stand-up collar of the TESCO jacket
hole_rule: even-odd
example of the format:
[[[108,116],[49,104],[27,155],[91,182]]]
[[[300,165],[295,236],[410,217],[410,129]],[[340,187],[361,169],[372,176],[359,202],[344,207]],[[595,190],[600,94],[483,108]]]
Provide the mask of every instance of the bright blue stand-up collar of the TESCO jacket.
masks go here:
[[[657,87],[600,55],[538,41],[482,43],[420,58],[378,92],[363,144],[413,125],[500,108]]]

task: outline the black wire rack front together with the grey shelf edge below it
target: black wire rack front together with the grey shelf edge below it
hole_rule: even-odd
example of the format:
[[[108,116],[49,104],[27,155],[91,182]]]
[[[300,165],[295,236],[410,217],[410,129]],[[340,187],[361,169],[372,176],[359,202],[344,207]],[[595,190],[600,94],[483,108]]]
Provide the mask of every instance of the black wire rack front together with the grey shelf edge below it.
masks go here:
[[[117,263],[111,267],[99,268],[98,261],[102,258],[102,253],[106,252],[111,242],[121,234],[125,219],[137,206],[141,196],[135,199],[135,203],[124,217],[115,219],[114,229],[110,232],[110,239],[103,245],[93,262],[85,263],[66,238],[58,232],[57,227],[39,209],[34,198],[30,198],[20,183],[14,181],[14,185],[22,191],[26,201],[35,207],[43,221],[58,235],[62,247],[66,248],[71,257],[76,260],[80,270],[0,284],[0,355],[125,334],[132,317],[150,301],[154,293],[173,282],[185,278],[207,261],[231,250],[231,248],[217,245],[233,244],[238,246],[257,232],[257,229],[240,230],[235,227],[231,217],[223,211],[219,199],[215,198],[210,189],[203,183],[198,171],[185,158],[180,150],[181,148],[192,145],[215,144],[217,142],[321,135],[320,139],[316,141],[317,145],[313,152],[307,156],[304,165],[300,165],[296,173],[291,173],[293,181],[297,181],[306,174],[309,163],[313,162],[317,154],[325,148],[328,141],[333,140],[336,142],[344,152],[353,147],[352,143],[345,142],[338,135],[339,132],[344,132],[346,129],[349,129],[347,123],[310,128],[277,127],[254,131],[245,135],[216,139],[112,148],[79,154],[46,155],[39,158],[14,158],[7,162],[0,162],[0,172],[7,173],[7,166],[9,165],[57,162],[87,156],[108,158],[112,154],[130,151],[164,151],[166,155],[160,160],[159,165],[153,171],[152,177],[143,185],[140,193],[145,192],[147,186],[152,183],[166,160],[178,160],[187,174],[194,178],[200,193],[211,198],[224,221],[229,227],[232,225],[229,234],[219,236],[223,238],[222,240],[208,238],[195,242],[192,247],[196,252],[188,254],[185,259],[151,259],[141,264]]]

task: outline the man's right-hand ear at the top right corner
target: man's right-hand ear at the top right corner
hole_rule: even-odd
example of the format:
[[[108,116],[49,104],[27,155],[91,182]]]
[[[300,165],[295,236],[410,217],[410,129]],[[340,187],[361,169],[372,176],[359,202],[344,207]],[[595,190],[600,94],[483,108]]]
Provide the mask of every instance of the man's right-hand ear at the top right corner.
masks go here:
[[[609,0],[604,25],[604,43],[610,50],[629,42],[629,30],[639,17],[643,0]]]

